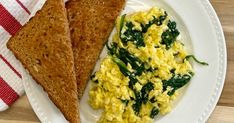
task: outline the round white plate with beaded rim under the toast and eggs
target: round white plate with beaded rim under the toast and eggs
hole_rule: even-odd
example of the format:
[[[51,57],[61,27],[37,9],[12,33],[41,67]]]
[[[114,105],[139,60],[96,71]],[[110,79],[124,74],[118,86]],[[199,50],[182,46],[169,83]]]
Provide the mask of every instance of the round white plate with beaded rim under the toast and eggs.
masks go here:
[[[145,10],[152,6],[165,9],[178,24],[182,41],[189,53],[209,63],[193,64],[195,76],[182,89],[173,110],[157,123],[203,123],[213,111],[221,94],[226,74],[226,44],[218,17],[208,0],[128,0],[123,13]],[[105,49],[101,58],[105,55]],[[98,69],[99,62],[95,69]],[[61,112],[32,78],[24,73],[24,87],[29,101],[42,122],[64,123]],[[93,123],[100,111],[87,104],[90,83],[80,103],[82,123]]]

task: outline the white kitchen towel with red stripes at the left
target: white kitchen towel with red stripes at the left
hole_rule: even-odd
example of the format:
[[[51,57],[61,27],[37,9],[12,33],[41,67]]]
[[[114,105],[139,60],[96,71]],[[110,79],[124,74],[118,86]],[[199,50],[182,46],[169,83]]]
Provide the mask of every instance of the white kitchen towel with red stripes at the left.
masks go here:
[[[7,109],[23,93],[22,71],[18,60],[6,47],[46,0],[0,0],[0,111]]]

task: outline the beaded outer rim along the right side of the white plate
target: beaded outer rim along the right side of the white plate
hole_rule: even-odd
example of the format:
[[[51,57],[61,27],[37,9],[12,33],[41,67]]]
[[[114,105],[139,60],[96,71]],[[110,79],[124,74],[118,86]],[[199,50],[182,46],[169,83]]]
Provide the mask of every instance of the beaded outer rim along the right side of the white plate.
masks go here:
[[[221,93],[223,91],[223,86],[226,78],[226,70],[227,70],[227,48],[226,48],[226,40],[223,32],[223,28],[221,22],[218,18],[218,15],[210,3],[209,0],[200,0],[203,7],[205,8],[207,14],[209,15],[212,24],[215,26],[215,32],[217,34],[218,41],[218,75],[216,78],[216,86],[213,92],[212,97],[209,100],[209,104],[203,109],[203,113],[200,115],[200,118],[196,121],[197,123],[203,123],[208,120],[211,113],[214,111],[218,100],[220,99]]]

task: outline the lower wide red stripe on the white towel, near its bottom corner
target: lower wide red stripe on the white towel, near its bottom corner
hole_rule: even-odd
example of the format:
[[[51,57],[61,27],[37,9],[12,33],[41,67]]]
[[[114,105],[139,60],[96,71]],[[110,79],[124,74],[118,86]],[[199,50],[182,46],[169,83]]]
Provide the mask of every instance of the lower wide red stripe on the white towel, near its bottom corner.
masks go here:
[[[0,98],[7,105],[15,102],[19,95],[0,77]]]

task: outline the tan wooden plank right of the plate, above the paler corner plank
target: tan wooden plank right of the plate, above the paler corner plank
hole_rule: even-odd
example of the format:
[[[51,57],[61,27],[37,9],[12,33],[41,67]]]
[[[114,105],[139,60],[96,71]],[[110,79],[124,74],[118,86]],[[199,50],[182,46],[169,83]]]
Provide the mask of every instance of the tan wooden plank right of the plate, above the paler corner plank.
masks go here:
[[[218,105],[234,107],[234,1],[211,0],[221,21],[227,45],[227,75]]]

